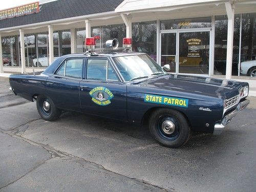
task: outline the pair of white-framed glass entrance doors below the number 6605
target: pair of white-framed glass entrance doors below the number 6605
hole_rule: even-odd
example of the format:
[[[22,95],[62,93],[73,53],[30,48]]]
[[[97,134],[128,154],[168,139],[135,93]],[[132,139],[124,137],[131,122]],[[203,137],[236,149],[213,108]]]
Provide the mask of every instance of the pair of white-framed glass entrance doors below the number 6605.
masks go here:
[[[210,30],[161,33],[161,66],[175,74],[209,75]]]

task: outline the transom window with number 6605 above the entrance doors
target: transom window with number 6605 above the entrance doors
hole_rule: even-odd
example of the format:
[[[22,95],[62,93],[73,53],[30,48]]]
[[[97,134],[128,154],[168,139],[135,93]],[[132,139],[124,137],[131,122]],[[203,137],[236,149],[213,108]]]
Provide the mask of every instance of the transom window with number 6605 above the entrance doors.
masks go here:
[[[190,29],[211,27],[211,17],[161,20],[160,29]]]

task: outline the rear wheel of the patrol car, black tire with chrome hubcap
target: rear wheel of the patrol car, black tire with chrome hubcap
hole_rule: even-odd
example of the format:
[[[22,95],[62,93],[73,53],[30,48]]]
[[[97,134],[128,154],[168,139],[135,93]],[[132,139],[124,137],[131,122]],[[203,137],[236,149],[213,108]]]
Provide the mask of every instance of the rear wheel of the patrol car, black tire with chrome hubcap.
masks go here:
[[[59,118],[61,114],[61,110],[56,108],[53,101],[44,95],[39,95],[37,97],[36,108],[39,115],[47,121],[53,121]]]

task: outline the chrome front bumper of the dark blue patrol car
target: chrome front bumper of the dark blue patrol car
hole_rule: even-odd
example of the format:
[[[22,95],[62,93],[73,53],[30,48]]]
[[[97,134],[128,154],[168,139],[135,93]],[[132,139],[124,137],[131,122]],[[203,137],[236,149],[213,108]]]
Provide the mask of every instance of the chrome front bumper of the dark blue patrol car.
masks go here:
[[[217,123],[214,126],[214,135],[220,135],[222,131],[224,130],[225,126],[232,120],[234,116],[238,114],[238,112],[244,110],[246,106],[250,103],[249,100],[245,100],[243,102],[240,102],[236,109],[234,109],[232,112],[227,114],[221,121],[221,123]]]

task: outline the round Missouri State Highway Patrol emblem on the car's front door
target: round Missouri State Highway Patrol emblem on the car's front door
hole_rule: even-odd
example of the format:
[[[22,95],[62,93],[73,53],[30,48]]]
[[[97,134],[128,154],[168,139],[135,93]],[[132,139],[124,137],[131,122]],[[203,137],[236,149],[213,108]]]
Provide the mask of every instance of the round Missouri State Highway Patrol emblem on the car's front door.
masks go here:
[[[114,97],[112,92],[105,87],[96,87],[93,88],[89,94],[92,97],[92,101],[98,105],[109,105],[111,99]]]

